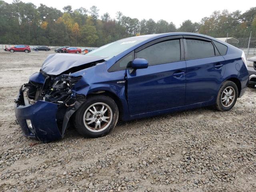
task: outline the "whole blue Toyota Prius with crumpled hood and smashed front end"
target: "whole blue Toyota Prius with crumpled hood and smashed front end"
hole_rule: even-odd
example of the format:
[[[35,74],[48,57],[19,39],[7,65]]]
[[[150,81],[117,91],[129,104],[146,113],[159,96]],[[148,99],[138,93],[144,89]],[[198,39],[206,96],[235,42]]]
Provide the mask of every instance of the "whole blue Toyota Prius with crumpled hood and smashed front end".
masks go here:
[[[125,38],[87,53],[50,54],[15,100],[25,136],[63,138],[72,122],[86,137],[132,120],[215,106],[228,111],[248,84],[244,52],[195,33]]]

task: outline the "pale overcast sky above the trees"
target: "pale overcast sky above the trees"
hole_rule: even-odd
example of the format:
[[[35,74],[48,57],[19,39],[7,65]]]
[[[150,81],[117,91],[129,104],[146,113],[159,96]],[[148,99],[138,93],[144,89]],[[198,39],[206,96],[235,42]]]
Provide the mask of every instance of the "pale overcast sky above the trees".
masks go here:
[[[12,3],[12,0],[5,1]],[[95,5],[100,10],[100,16],[108,12],[111,18],[114,18],[116,12],[121,11],[125,16],[139,20],[164,19],[173,22],[176,27],[188,19],[192,22],[200,22],[203,17],[210,16],[214,10],[227,9],[230,12],[241,10],[243,13],[250,7],[256,6],[255,0],[22,0],[22,2],[32,2],[36,6],[42,3],[61,11],[67,5],[71,5],[73,9],[84,7],[88,10]]]

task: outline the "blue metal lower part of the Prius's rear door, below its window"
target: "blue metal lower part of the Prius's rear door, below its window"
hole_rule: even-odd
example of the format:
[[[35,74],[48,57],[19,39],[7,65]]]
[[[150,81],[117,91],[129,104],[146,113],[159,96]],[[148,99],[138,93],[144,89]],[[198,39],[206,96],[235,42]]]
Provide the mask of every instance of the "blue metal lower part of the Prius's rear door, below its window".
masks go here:
[[[217,96],[225,63],[223,56],[186,60],[186,105],[206,102]]]

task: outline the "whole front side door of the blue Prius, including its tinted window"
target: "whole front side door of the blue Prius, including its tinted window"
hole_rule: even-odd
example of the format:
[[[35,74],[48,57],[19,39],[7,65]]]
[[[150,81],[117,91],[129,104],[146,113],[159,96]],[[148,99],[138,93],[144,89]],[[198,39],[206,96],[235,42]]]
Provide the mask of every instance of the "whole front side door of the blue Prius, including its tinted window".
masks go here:
[[[167,37],[145,44],[135,50],[135,58],[148,60],[149,66],[135,72],[127,69],[131,115],[184,105],[186,62],[182,37]]]

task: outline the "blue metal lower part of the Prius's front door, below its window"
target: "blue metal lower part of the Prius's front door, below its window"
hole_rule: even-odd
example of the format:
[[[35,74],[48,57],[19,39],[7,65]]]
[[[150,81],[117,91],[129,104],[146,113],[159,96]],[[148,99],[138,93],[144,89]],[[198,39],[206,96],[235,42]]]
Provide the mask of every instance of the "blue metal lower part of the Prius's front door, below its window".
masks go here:
[[[127,69],[130,115],[183,106],[186,89],[185,72],[185,61],[152,65],[131,74]]]

